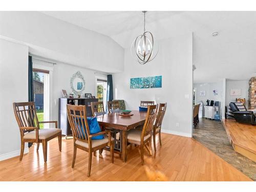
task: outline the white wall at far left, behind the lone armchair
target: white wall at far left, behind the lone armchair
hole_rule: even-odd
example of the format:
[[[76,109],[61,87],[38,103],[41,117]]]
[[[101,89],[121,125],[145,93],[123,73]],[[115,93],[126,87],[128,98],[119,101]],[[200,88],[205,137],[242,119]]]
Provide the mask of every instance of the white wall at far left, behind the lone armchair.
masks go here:
[[[0,161],[20,152],[12,103],[28,100],[28,47],[0,39]],[[28,148],[25,148],[25,153]]]

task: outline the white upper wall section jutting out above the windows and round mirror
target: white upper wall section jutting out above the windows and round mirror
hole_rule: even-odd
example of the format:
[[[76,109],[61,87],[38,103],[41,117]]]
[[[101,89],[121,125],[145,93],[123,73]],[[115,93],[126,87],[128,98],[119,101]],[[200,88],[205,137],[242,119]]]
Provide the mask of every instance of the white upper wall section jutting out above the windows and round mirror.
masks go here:
[[[0,36],[30,53],[104,72],[123,70],[123,48],[112,38],[35,11],[1,11]]]

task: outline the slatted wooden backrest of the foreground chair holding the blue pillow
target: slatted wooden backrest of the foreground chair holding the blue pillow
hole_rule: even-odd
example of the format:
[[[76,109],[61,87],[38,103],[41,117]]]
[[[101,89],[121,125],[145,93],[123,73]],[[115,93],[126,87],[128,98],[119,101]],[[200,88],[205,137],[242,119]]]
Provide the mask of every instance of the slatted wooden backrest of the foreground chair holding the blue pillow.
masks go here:
[[[89,142],[90,129],[86,117],[85,105],[67,104],[68,119],[75,140]]]

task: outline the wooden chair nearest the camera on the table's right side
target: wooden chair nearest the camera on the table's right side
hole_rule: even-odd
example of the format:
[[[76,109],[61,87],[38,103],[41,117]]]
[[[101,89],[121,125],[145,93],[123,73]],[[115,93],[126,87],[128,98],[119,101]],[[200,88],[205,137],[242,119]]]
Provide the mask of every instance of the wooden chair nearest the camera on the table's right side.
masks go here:
[[[144,146],[147,152],[152,156],[152,133],[154,122],[156,120],[156,115],[157,105],[148,105],[146,120],[142,131],[134,129],[127,132],[127,142],[140,145],[140,157],[142,165],[144,164]],[[149,148],[146,146],[147,143],[149,145]]]

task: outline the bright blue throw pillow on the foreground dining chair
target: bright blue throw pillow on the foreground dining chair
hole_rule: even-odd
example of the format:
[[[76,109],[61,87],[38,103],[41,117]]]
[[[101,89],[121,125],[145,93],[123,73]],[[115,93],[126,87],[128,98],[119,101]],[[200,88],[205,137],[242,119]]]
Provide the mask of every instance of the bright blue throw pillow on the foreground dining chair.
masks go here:
[[[80,124],[81,124],[81,118],[79,118],[79,121],[80,121]],[[99,123],[98,123],[96,117],[87,117],[87,122],[88,122],[88,125],[89,125],[90,134],[95,134],[95,133],[101,132],[100,126],[99,126]],[[83,123],[84,123],[84,119],[83,119]],[[83,133],[83,129],[81,129],[81,130],[82,130],[83,136],[85,136],[85,133]],[[92,137],[92,139],[93,140],[104,139],[104,135],[94,136],[94,137]]]

